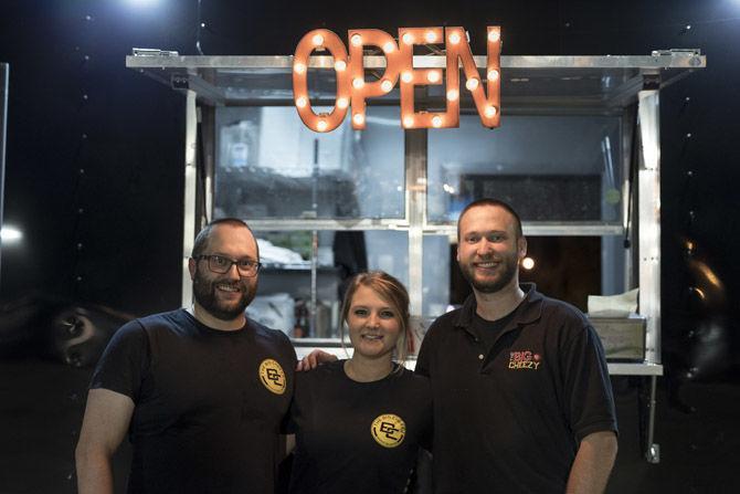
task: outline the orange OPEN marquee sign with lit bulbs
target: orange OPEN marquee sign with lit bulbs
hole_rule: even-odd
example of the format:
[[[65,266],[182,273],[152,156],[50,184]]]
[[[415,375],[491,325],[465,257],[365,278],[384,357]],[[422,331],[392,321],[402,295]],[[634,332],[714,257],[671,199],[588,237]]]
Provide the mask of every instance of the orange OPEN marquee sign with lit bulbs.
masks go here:
[[[500,52],[499,27],[487,28],[485,78],[476,67],[463,28],[400,28],[398,42],[378,29],[348,31],[349,53],[341,39],[326,29],[313,30],[300,39],[293,57],[293,96],[300,119],[315,132],[326,133],[339,127],[351,108],[352,128],[366,126],[367,99],[390,93],[401,84],[401,125],[404,128],[448,128],[459,126],[459,69],[465,76],[465,91],[471,92],[480,122],[486,127],[500,124]],[[444,44],[445,70],[414,69],[413,49],[417,44]],[[377,46],[385,57],[385,71],[372,81],[366,78],[364,46]],[[308,97],[308,60],[315,50],[326,50],[334,57],[337,93],[331,112],[316,114]],[[414,86],[444,82],[445,111],[415,112]]]

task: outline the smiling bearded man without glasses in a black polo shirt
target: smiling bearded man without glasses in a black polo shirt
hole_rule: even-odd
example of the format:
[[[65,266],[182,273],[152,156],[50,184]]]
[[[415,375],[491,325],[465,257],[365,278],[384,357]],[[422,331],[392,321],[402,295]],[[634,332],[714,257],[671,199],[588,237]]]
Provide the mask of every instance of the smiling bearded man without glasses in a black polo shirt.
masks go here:
[[[519,284],[515,210],[468,204],[457,261],[473,287],[430,327],[416,364],[434,392],[435,493],[599,493],[616,456],[596,333],[577,308]]]

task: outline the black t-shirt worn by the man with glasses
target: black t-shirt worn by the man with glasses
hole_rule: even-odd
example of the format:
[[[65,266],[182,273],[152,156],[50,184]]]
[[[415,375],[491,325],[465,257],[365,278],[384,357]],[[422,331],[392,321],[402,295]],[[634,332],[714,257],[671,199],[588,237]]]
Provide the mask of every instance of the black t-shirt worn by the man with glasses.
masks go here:
[[[179,309],[121,327],[91,388],[136,404],[128,492],[273,494],[295,361],[284,334],[249,319],[221,332]]]

